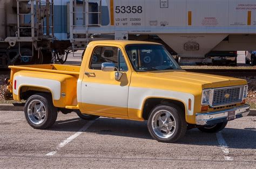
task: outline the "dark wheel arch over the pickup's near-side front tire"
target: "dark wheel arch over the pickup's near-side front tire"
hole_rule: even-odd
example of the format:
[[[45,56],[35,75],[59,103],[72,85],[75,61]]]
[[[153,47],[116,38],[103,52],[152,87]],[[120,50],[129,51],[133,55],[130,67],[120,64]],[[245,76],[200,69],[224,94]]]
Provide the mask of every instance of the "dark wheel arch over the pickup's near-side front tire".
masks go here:
[[[166,97],[147,97],[143,102],[142,107],[142,118],[147,120],[150,115],[150,111],[158,104],[175,104],[178,105],[185,115],[187,114],[186,104],[177,98],[166,98]]]

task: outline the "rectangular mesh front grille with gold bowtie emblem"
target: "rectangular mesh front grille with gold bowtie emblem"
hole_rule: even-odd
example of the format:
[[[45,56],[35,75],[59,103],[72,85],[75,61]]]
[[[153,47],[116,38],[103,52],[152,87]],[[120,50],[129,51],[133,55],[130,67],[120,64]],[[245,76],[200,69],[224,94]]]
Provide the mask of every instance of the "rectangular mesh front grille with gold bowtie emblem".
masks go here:
[[[214,89],[212,105],[223,105],[242,101],[242,87]]]

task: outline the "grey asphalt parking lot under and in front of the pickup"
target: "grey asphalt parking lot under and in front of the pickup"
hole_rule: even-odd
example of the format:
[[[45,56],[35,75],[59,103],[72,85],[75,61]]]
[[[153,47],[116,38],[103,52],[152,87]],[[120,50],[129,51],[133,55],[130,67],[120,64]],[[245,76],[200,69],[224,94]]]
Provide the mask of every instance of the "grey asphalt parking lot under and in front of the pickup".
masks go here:
[[[22,111],[0,111],[0,167],[256,167],[256,116],[220,133],[188,130],[178,143],[153,140],[145,122],[59,114],[32,129]]]

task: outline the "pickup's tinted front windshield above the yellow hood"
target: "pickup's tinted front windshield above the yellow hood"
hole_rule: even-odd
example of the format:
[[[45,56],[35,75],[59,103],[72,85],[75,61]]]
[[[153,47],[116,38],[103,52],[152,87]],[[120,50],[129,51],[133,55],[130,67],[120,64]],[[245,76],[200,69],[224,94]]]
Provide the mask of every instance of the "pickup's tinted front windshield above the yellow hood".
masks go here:
[[[136,71],[181,69],[161,45],[129,45],[126,46],[126,53]]]

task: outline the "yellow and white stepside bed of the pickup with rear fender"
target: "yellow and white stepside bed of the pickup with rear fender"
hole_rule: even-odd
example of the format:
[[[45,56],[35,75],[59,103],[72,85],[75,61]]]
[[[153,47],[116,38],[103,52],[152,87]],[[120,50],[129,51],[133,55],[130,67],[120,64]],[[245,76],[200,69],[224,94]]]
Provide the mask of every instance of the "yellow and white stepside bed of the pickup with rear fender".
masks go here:
[[[16,101],[26,100],[32,92],[51,93],[53,105],[59,108],[77,106],[77,80],[80,66],[26,65],[9,66],[10,84]]]

